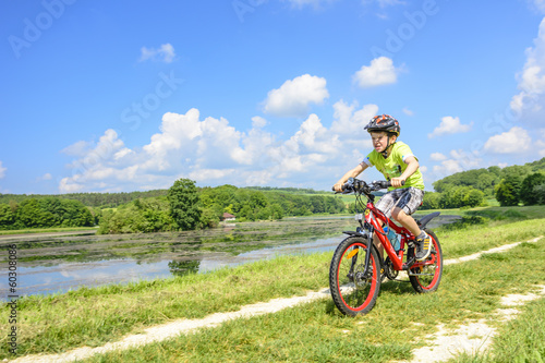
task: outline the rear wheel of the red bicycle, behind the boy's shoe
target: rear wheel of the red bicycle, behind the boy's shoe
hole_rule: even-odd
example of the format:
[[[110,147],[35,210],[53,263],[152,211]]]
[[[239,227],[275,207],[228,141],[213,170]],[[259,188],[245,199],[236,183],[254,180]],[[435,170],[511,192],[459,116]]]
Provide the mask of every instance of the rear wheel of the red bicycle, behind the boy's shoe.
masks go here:
[[[414,267],[410,269],[411,274],[432,274],[433,275],[409,275],[409,280],[413,289],[419,293],[428,293],[436,291],[439,288],[439,283],[443,277],[443,250],[437,235],[429,229],[425,229],[426,233],[429,234],[433,241],[432,252],[429,256],[424,261],[429,265]],[[419,265],[419,263],[416,263]]]

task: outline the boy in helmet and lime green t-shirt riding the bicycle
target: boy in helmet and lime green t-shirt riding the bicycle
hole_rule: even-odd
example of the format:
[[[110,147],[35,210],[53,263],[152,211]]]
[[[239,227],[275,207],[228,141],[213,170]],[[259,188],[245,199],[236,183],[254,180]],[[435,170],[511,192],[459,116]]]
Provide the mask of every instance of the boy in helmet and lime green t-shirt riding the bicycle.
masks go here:
[[[419,169],[419,160],[407,144],[397,141],[401,129],[398,120],[391,116],[375,116],[365,130],[371,134],[375,149],[359,166],[347,172],[334,189],[341,192],[342,185],[350,178],[358,177],[368,167],[376,167],[392,186],[375,206],[388,218],[391,216],[395,221],[416,235],[416,259],[426,259],[432,251],[431,238],[410,216],[420,207],[424,197],[424,181]],[[404,184],[401,185],[403,181]],[[384,249],[376,235],[374,241],[383,255]]]

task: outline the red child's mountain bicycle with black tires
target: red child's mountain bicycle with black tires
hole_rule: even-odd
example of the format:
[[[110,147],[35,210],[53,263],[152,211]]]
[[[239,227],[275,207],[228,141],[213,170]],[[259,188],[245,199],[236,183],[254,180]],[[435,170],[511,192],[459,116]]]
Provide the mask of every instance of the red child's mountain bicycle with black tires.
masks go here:
[[[437,290],[443,276],[443,252],[439,239],[426,229],[426,225],[440,213],[432,213],[416,220],[422,230],[432,238],[432,252],[425,261],[416,261],[415,237],[405,228],[399,227],[375,207],[373,192],[390,186],[388,181],[371,184],[351,178],[342,187],[343,193],[354,193],[360,227],[343,233],[344,239],[334,253],[329,268],[329,290],[335,305],[346,315],[367,314],[375,306],[382,282],[395,280],[399,271],[407,271],[416,292],[426,293]],[[367,198],[364,204],[362,196]],[[393,230],[399,239],[397,249],[390,243],[383,226]],[[376,234],[388,255],[385,261],[373,244]],[[397,243],[396,243],[397,244]]]

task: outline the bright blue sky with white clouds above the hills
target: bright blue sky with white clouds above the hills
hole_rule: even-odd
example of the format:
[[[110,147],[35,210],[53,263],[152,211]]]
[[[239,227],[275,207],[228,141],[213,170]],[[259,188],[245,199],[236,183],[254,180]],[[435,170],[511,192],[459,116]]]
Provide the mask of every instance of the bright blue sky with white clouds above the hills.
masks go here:
[[[2,8],[0,193],[329,190],[379,113],[427,190],[545,156],[543,0]]]

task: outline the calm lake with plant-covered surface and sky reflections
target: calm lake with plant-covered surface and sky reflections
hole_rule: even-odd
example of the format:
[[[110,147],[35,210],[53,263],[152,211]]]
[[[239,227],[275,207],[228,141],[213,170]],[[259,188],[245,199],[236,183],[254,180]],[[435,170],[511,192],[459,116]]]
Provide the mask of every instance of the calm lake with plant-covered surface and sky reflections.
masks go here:
[[[440,216],[434,222],[456,218]],[[17,245],[19,295],[49,294],[82,286],[206,273],[284,254],[334,251],[346,237],[342,231],[355,227],[353,217],[286,218],[170,233],[5,235],[0,246],[7,265],[5,246]]]

